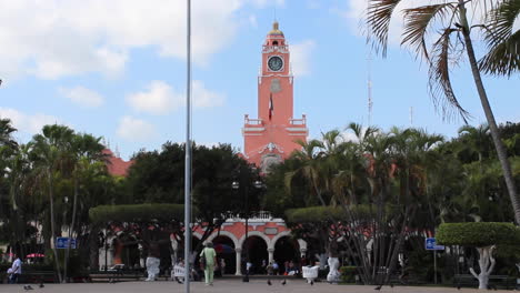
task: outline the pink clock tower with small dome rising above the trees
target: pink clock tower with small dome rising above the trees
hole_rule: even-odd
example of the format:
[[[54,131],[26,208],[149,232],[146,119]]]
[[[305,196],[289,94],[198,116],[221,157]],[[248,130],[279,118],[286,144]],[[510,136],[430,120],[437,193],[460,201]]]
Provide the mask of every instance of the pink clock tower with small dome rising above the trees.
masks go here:
[[[293,118],[293,81],[289,44],[278,22],[267,34],[262,46],[262,63],[258,77],[258,119],[244,118],[242,134],[244,156],[250,163],[269,168],[300,150],[297,141],[306,141],[309,133],[306,115]]]

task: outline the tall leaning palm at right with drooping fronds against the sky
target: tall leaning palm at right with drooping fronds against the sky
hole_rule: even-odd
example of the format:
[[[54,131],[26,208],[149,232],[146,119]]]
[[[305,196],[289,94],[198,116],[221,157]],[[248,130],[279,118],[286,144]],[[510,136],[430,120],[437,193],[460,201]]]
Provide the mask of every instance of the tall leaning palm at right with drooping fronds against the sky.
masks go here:
[[[377,49],[381,49],[383,55],[387,53],[388,46],[388,32],[390,20],[396,11],[396,8],[399,3],[406,2],[402,0],[369,0],[368,8],[368,26],[370,39],[373,41]],[[508,161],[506,148],[503,142],[500,139],[500,133],[498,130],[497,122],[494,120],[493,112],[489,104],[488,95],[486,93],[481,72],[479,69],[479,63],[476,58],[473,43],[471,40],[471,31],[474,28],[482,26],[470,26],[467,18],[467,3],[474,1],[464,1],[457,0],[456,2],[442,2],[433,3],[428,6],[421,6],[410,9],[404,9],[404,32],[402,34],[402,44],[410,46],[412,50],[419,57],[423,57],[429,64],[429,90],[436,105],[440,107],[440,110],[444,118],[451,118],[453,114],[458,114],[462,118],[464,122],[469,118],[469,113],[462,108],[459,103],[450,77],[450,64],[453,62],[453,58],[461,58],[461,54],[457,54],[461,49],[466,50],[469,64],[471,68],[471,73],[473,75],[474,84],[479,93],[480,102],[486,114],[486,119],[490,127],[491,137],[493,139],[494,146],[497,149],[497,154],[500,160],[503,176],[508,188],[509,196],[514,211],[514,219],[517,224],[520,224],[520,199],[517,194],[516,182],[512,176],[511,166]],[[482,0],[482,7],[487,1]],[[493,3],[493,1],[490,1]],[[497,2],[497,1],[494,1]],[[491,26],[488,29],[494,29],[490,32],[490,36],[508,36],[508,28],[512,28],[512,22],[514,16],[518,14],[520,10],[518,8],[518,0],[500,0],[498,10],[494,11],[496,26]],[[489,6],[490,8],[493,4]],[[511,11],[513,11],[511,13]],[[516,12],[516,14],[514,14]],[[503,16],[508,16],[507,20],[502,21]],[[510,21],[512,18],[512,21]],[[439,26],[441,29],[439,30]],[[504,29],[506,28],[506,29]],[[426,36],[431,32],[431,30],[439,32],[439,38],[431,44],[431,48],[428,48]],[[504,33],[502,33],[506,31]],[[454,38],[452,38],[454,36]],[[518,43],[519,33],[510,36],[509,41],[514,41]],[[499,39],[503,41],[502,39]],[[503,42],[501,42],[503,43]],[[491,44],[498,44],[497,42],[491,42]],[[507,47],[507,44],[506,44]],[[503,48],[503,47],[502,47]],[[508,47],[508,48],[518,48],[518,47]],[[518,49],[517,51],[506,54],[506,57],[511,57],[509,60],[518,60]],[[497,60],[502,60],[499,58],[500,54],[494,54],[493,64],[497,64]],[[502,55],[503,57],[503,55]],[[503,62],[502,70],[496,70],[497,72],[503,72],[503,69],[518,69],[518,63],[513,62]],[[497,67],[498,68],[498,67]],[[494,69],[494,68],[492,68]],[[506,72],[511,72],[506,70]]]

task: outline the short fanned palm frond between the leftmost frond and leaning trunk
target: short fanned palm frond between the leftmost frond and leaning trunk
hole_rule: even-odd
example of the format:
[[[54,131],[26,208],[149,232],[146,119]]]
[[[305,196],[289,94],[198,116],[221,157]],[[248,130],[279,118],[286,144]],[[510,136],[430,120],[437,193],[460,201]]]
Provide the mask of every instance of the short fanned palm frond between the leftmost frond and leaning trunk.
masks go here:
[[[428,28],[436,19],[444,18],[449,12],[456,11],[453,3],[423,6],[404,10],[404,32],[401,44],[409,44],[416,49],[417,55],[422,54],[429,59],[426,36]]]

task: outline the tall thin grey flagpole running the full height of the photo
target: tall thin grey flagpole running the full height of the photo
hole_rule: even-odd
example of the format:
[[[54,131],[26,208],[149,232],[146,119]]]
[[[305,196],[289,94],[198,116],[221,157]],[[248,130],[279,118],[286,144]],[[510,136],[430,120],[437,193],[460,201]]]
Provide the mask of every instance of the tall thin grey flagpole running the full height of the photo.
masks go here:
[[[184,292],[190,293],[191,273],[191,0],[187,0],[187,82],[184,160]]]

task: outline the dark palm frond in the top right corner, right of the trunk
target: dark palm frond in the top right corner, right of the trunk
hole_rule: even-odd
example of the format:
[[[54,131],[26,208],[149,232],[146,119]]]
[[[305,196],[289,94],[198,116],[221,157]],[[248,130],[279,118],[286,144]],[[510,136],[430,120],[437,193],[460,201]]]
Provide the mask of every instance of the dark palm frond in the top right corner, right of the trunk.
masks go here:
[[[520,16],[520,0],[504,0],[489,13],[486,42],[489,52],[479,61],[486,73],[508,75],[520,70],[520,30],[513,32]]]

